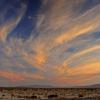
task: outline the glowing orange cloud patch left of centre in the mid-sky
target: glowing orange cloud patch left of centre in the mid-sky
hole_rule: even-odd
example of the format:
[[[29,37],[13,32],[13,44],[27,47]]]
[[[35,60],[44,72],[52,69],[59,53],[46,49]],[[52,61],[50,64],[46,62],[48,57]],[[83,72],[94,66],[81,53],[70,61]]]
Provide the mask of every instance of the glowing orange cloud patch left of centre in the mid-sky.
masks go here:
[[[29,65],[36,67],[38,69],[43,69],[44,64],[48,59],[48,53],[46,51],[46,45],[41,41],[32,42],[30,46],[30,50],[32,53],[28,53],[27,51],[23,51],[21,53],[22,59],[24,59]],[[34,46],[33,46],[34,45]]]

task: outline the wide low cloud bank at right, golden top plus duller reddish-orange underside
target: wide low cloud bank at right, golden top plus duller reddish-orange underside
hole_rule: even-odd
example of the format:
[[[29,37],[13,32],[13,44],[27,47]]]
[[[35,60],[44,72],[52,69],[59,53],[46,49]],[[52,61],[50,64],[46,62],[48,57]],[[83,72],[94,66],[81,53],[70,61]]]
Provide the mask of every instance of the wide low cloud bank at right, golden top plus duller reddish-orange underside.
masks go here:
[[[80,64],[75,67],[54,68],[54,77],[50,79],[58,85],[85,85],[100,75],[100,62]]]

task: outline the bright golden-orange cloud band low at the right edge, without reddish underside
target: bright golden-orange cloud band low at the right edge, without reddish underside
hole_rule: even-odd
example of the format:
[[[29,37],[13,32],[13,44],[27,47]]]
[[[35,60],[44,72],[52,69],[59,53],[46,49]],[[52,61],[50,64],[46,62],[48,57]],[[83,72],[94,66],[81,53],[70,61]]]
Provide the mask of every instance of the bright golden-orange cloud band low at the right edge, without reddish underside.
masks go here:
[[[69,68],[69,75],[85,75],[100,73],[100,62],[90,62],[86,64],[80,64],[74,68]]]

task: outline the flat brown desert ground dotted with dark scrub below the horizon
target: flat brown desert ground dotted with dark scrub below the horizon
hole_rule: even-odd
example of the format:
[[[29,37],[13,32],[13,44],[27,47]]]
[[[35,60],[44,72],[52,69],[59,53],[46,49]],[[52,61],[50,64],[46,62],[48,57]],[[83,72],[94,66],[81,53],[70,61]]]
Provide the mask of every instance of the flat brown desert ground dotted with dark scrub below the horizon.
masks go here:
[[[100,89],[0,88],[0,100],[100,100]]]

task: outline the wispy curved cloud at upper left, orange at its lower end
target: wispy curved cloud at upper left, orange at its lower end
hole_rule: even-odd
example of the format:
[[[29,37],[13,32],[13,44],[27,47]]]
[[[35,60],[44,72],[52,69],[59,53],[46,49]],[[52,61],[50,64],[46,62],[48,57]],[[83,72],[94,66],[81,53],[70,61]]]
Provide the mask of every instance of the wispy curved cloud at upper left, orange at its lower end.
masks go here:
[[[0,40],[4,41],[7,35],[18,25],[20,20],[22,19],[27,6],[23,4],[21,8],[17,9],[16,16],[4,21],[2,25],[0,25]],[[2,13],[2,16],[5,16],[8,13],[9,6],[5,9],[5,12]],[[2,11],[3,12],[3,11]],[[6,13],[6,14],[5,14]]]

